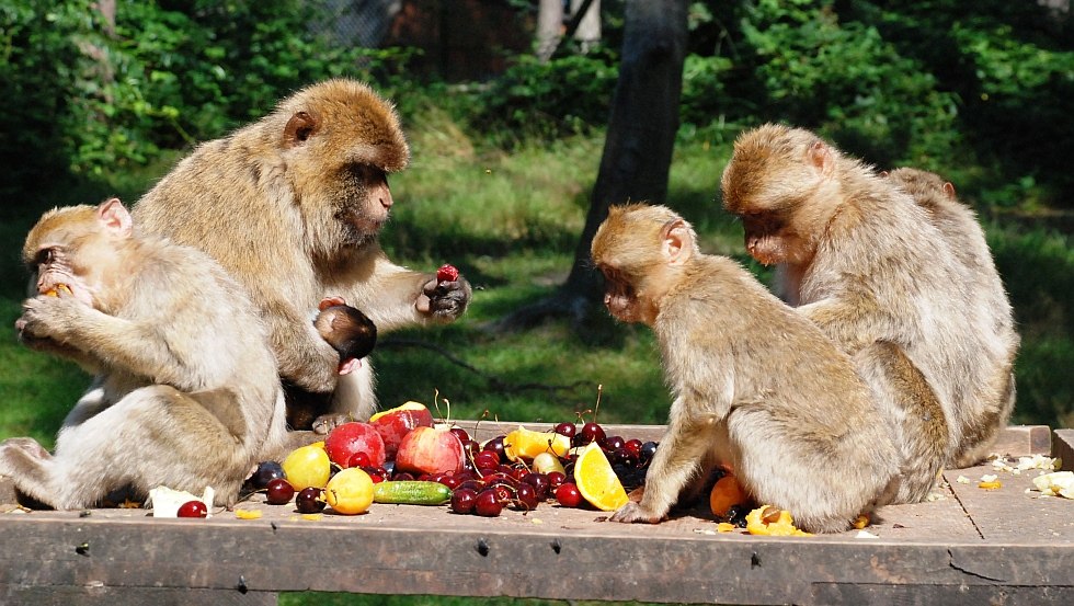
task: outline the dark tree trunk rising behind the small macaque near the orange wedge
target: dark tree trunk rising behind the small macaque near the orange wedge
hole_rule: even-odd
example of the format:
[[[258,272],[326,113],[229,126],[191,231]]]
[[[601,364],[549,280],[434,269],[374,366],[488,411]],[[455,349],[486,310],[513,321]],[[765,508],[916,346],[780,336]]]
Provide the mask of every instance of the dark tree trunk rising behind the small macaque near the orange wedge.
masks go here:
[[[563,315],[584,324],[594,304],[603,298],[603,281],[590,263],[590,244],[608,216],[608,206],[664,202],[678,130],[686,10],[687,0],[627,0],[619,80],[570,276],[556,295],[512,313],[499,328],[533,325]]]

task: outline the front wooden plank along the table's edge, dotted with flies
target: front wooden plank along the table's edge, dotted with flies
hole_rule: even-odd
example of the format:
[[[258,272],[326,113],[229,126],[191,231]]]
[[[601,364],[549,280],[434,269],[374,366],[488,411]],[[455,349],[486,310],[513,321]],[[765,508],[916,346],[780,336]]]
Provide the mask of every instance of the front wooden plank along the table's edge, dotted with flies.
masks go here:
[[[975,596],[1074,588],[1070,544],[705,535],[557,507],[503,518],[377,508],[321,522],[12,517],[0,524],[0,584],[233,591],[242,580],[250,592],[754,604],[826,603],[831,590],[818,587],[832,584],[970,587]],[[443,527],[420,523],[430,518]]]

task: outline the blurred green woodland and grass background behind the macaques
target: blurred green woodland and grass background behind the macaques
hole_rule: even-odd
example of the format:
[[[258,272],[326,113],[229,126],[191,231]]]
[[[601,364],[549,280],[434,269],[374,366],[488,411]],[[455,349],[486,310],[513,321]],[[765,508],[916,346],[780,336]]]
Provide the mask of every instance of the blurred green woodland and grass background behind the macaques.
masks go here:
[[[27,276],[19,251],[39,214],[108,195],[133,204],[197,142],[335,76],[391,98],[413,147],[391,182],[389,254],[425,271],[450,262],[477,287],[454,325],[381,341],[385,408],[419,400],[442,416],[449,403],[455,419],[570,421],[599,401],[602,421],[664,422],[648,330],[612,322],[574,279],[592,273],[575,254],[587,214],[614,197],[598,175],[628,153],[606,147],[607,135],[635,137],[635,172],[656,175],[637,184],[628,174],[627,194],[674,207],[706,251],[768,281],[720,207],[719,176],[734,137],[775,121],[878,168],[955,183],[987,231],[1022,334],[1015,421],[1074,426],[1069,0],[644,7],[0,3],[0,438],[50,445],[89,384],[14,336]],[[613,118],[638,103],[674,126],[645,138]]]

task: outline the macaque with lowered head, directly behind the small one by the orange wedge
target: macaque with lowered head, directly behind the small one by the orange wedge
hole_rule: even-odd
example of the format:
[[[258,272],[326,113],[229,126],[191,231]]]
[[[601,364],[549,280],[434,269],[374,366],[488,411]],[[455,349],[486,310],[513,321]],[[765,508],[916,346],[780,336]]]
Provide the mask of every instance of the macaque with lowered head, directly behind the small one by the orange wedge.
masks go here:
[[[1017,340],[969,312],[975,278],[924,208],[812,133],[770,124],[735,141],[721,185],[750,254],[778,265],[786,300],[873,388],[903,454],[898,502],[987,449],[1010,410]]]

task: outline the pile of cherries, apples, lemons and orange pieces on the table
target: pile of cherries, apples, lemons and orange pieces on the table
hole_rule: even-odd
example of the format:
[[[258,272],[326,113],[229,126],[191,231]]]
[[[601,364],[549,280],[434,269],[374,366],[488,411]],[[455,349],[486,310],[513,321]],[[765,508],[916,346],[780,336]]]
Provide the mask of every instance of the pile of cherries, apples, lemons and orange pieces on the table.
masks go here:
[[[333,428],[282,462],[262,462],[251,490],[266,503],[292,501],[299,513],[325,505],[344,515],[373,503],[439,505],[458,514],[499,516],[541,503],[615,511],[627,489],[644,483],[654,442],[608,436],[595,422],[548,432],[518,427],[482,444],[466,430],[435,424],[418,402]]]

